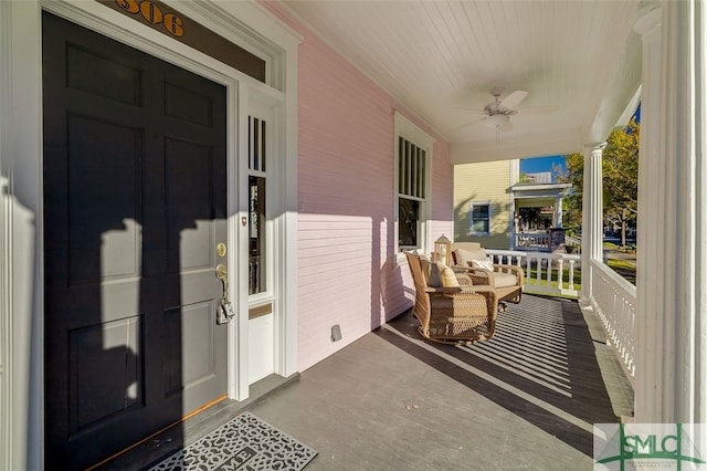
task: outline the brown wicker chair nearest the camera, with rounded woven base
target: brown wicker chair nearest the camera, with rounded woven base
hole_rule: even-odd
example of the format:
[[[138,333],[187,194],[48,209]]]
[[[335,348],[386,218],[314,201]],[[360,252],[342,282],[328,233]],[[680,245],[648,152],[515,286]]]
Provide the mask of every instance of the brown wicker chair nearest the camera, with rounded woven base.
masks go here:
[[[444,344],[487,341],[494,336],[498,300],[489,286],[428,286],[420,255],[405,252],[415,286],[412,314],[420,335]]]

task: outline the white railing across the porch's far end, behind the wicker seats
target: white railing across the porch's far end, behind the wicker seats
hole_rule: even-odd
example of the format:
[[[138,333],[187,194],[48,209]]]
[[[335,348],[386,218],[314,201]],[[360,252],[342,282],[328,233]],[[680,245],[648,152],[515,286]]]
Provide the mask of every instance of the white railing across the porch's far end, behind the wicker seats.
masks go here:
[[[524,291],[579,297],[574,269],[581,269],[580,255],[495,249],[486,249],[486,253],[494,263],[523,268],[526,273]]]

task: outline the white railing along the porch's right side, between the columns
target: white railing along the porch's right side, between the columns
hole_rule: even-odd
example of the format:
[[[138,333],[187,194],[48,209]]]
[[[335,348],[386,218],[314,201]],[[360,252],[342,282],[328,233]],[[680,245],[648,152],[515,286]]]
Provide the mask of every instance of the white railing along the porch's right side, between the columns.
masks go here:
[[[635,381],[636,287],[600,261],[592,261],[594,312],[626,376]]]

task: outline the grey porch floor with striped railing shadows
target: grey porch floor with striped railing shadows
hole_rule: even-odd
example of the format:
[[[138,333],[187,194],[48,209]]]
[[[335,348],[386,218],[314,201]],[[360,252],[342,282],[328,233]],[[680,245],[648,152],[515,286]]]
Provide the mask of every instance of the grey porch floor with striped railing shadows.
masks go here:
[[[318,451],[307,471],[590,470],[593,423],[633,414],[599,321],[577,302],[525,295],[472,347],[415,328],[404,313],[261,400],[221,405],[184,442],[245,407]]]

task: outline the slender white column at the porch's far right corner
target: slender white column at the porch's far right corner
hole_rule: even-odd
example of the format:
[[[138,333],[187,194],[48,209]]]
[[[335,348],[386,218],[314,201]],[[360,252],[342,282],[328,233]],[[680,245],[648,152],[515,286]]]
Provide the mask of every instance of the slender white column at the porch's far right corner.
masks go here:
[[[584,182],[582,190],[582,299],[592,296],[591,260],[602,260],[603,242],[603,198],[602,198],[602,151],[606,143],[585,147]]]

